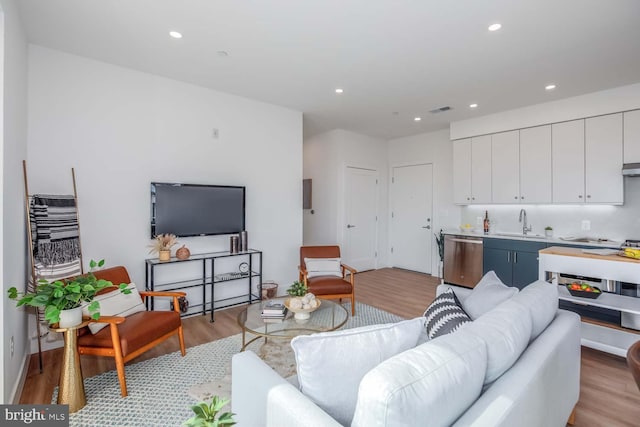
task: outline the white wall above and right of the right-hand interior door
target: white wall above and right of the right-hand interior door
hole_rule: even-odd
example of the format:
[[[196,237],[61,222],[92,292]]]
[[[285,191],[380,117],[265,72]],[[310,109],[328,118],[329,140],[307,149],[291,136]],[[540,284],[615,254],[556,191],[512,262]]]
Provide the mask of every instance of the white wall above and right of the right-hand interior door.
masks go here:
[[[453,204],[453,150],[449,131],[423,133],[388,143],[389,168],[416,164],[433,165],[433,231],[456,227],[460,208]],[[433,239],[431,271],[438,271],[438,248]]]

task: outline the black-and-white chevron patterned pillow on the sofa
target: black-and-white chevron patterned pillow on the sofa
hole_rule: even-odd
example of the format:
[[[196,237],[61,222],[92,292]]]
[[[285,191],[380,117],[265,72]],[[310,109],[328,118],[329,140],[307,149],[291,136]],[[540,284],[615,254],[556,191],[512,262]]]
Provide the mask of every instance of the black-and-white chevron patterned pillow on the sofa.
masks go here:
[[[451,288],[433,300],[425,310],[424,317],[430,339],[455,332],[460,326],[471,322]]]

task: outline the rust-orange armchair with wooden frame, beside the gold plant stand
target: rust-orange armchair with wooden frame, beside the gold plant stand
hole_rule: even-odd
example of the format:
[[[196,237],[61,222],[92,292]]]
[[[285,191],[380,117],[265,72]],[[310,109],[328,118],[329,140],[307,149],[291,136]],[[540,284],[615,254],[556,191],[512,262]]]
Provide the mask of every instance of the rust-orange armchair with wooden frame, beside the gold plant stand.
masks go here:
[[[129,273],[124,267],[107,268],[94,272],[94,275],[98,279],[109,280],[114,285],[131,283]],[[117,288],[107,290],[114,291],[117,291]],[[95,335],[86,327],[79,331],[78,351],[81,355],[115,358],[122,397],[127,396],[124,372],[126,362],[174,335],[178,335],[182,355],[186,354],[178,304],[178,298],[185,296],[185,293],[141,291],[140,295],[143,301],[150,296],[171,297],[173,311],[143,311],[127,317],[102,316],[97,321],[108,323],[109,327],[103,328]]]

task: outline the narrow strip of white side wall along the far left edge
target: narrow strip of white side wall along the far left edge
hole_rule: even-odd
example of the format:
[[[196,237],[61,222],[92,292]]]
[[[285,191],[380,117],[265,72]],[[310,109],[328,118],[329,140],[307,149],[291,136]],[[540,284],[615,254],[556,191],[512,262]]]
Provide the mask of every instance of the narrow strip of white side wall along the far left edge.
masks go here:
[[[0,201],[0,272],[2,276],[2,349],[3,384],[0,401],[11,403],[19,392],[20,378],[26,369],[27,315],[6,298],[11,286],[24,289],[26,277],[25,212],[22,160],[26,158],[27,139],[27,42],[15,2],[1,0],[4,15],[2,47],[2,199]],[[10,342],[14,340],[11,356]]]

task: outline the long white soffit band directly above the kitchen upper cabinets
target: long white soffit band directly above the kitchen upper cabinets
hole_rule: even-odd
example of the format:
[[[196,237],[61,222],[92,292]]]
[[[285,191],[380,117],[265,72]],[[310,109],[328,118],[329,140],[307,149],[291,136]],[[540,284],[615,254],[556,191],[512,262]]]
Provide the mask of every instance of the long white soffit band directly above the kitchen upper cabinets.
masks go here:
[[[451,139],[640,108],[640,83],[451,123]]]

